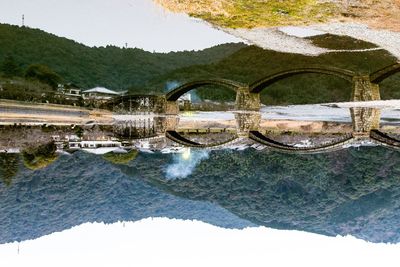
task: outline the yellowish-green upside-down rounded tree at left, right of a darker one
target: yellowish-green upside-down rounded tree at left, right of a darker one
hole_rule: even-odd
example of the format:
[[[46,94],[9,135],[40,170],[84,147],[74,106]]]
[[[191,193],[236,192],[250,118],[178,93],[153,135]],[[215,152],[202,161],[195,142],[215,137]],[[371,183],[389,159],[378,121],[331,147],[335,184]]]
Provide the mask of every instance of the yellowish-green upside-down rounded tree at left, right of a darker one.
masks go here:
[[[22,151],[25,167],[31,170],[47,167],[57,159],[56,150],[57,147],[54,142],[25,149]]]

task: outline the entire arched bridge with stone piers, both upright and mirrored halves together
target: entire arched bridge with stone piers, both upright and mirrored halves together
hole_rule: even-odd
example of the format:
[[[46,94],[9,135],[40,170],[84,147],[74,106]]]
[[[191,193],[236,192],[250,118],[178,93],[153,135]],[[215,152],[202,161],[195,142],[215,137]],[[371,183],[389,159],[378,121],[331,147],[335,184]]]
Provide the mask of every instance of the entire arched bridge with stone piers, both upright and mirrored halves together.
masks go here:
[[[259,128],[261,120],[260,92],[268,90],[270,85],[280,80],[305,73],[332,75],[344,79],[352,85],[352,96],[350,101],[373,101],[380,100],[379,83],[398,72],[400,72],[400,63],[393,64],[368,75],[357,74],[352,71],[333,67],[313,66],[280,71],[250,85],[226,79],[191,81],[175,88],[163,97],[140,96],[139,98],[141,98],[141,103],[145,103],[146,101],[151,102],[151,108],[155,110],[156,113],[166,115],[159,119],[157,126],[153,128],[153,135],[163,135],[166,138],[187,147],[221,148],[228,147],[243,139],[247,139],[273,150],[293,153],[320,153],[334,151],[363,141],[398,149],[400,148],[400,142],[398,140],[379,131],[380,111],[375,108],[350,108],[353,125],[352,133],[345,134],[341,138],[332,142],[314,147],[298,147],[278,142],[262,134]],[[189,91],[206,85],[225,87],[236,93],[236,133],[225,141],[212,144],[195,142],[182,136],[177,131],[177,125],[179,122],[177,116],[179,113],[177,100]],[[146,100],[147,98],[150,100]],[[126,112],[126,107],[129,105],[132,107],[133,99],[136,99],[135,101],[137,102],[138,96],[128,95],[120,97],[114,99],[110,105],[119,107],[122,110],[119,110],[119,112],[123,113],[124,109]],[[130,111],[132,111],[132,108],[130,108]]]

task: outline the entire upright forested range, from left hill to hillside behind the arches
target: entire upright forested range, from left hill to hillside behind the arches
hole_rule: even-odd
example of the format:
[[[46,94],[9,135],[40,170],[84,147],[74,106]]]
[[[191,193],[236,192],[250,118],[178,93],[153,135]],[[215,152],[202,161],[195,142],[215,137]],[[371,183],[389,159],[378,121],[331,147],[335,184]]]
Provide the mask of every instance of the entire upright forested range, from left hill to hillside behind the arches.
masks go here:
[[[309,39],[317,46],[333,50],[375,47],[343,36],[324,35]],[[55,72],[52,75],[61,76],[65,83],[72,82],[83,88],[129,89],[132,94],[165,93],[167,84],[176,86],[203,78],[226,78],[249,84],[280,70],[310,65],[369,74],[397,61],[385,50],[307,56],[244,44],[224,44],[203,51],[166,54],[115,46],[90,48],[41,30],[0,24],[0,64],[6,64],[9,56],[21,69],[26,70],[32,64],[48,66]],[[400,74],[385,80],[381,84],[382,98],[400,98],[399,87]],[[348,101],[351,90],[352,84],[340,78],[304,74],[273,84],[262,92],[261,101],[264,104]],[[235,99],[235,94],[228,89],[215,86],[201,88],[197,94],[202,99]]]

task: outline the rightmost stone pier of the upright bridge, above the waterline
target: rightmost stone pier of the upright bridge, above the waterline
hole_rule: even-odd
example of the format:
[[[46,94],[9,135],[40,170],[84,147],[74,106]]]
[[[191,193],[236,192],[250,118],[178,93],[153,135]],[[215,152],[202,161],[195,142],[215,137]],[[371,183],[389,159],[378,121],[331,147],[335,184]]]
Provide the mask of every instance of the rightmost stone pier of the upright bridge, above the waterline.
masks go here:
[[[380,100],[379,84],[372,83],[369,75],[353,77],[351,101]]]

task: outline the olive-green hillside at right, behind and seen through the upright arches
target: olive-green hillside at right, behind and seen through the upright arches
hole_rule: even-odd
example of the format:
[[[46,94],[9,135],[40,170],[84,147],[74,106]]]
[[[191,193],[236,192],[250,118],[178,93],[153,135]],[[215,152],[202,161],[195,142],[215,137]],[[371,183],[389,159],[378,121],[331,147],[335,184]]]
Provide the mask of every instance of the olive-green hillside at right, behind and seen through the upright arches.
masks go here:
[[[329,38],[314,37],[321,47],[328,46],[346,49],[371,47],[372,44],[341,37],[335,41]],[[310,38],[313,39],[313,38]],[[352,70],[360,74],[369,74],[395,63],[397,59],[385,50],[367,52],[328,53],[317,57],[300,54],[281,53],[265,50],[256,46],[247,46],[219,62],[184,67],[174,70],[152,81],[153,88],[160,88],[166,81],[184,83],[200,78],[226,78],[244,83],[252,83],[263,77],[291,68],[310,65],[333,66]],[[383,99],[400,98],[400,74],[396,74],[381,84]],[[234,100],[234,94],[227,89],[204,88],[198,90],[201,98]],[[303,74],[284,79],[264,90],[261,100],[264,104],[305,104],[348,101],[352,85],[340,78],[321,74]]]

